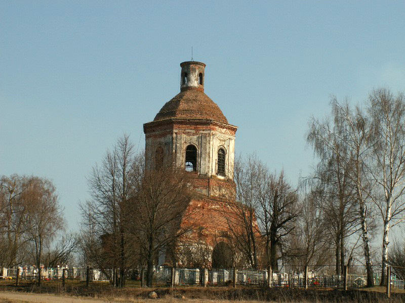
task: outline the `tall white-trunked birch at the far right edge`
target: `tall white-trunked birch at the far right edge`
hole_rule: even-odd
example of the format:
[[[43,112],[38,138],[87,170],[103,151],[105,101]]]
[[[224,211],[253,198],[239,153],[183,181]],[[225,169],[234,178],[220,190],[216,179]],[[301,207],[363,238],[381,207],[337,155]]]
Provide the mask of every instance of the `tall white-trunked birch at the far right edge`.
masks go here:
[[[369,95],[373,161],[368,169],[379,189],[371,198],[383,223],[381,285],[386,282],[390,228],[405,219],[405,99],[386,88]]]

